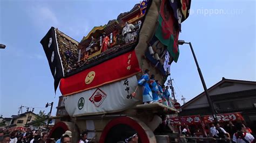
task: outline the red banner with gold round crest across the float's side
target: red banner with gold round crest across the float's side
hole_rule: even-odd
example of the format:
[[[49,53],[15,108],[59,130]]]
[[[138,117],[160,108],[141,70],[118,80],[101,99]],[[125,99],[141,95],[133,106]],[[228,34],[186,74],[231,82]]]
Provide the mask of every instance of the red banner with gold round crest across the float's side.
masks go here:
[[[59,88],[62,95],[71,95],[123,80],[140,71],[136,54],[131,51],[92,68],[85,69],[78,74],[62,78]]]

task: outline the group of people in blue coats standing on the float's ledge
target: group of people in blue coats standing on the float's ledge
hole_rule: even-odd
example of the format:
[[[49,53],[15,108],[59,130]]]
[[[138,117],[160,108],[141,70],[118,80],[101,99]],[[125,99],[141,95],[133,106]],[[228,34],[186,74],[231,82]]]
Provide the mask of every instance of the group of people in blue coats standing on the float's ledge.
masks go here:
[[[161,85],[158,80],[155,80],[155,76],[150,75],[150,70],[146,69],[144,74],[138,81],[138,85],[143,86],[143,103],[150,104],[154,102],[163,103],[164,105],[172,107],[170,102],[169,87]]]

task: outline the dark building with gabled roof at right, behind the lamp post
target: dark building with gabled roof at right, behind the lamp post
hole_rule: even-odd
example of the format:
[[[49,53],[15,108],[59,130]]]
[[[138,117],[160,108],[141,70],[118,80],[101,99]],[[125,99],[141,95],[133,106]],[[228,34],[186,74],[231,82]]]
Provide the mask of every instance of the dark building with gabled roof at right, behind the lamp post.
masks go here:
[[[256,132],[256,82],[223,79],[208,88],[217,114],[241,112],[246,124]],[[181,106],[179,116],[211,115],[205,92]]]

